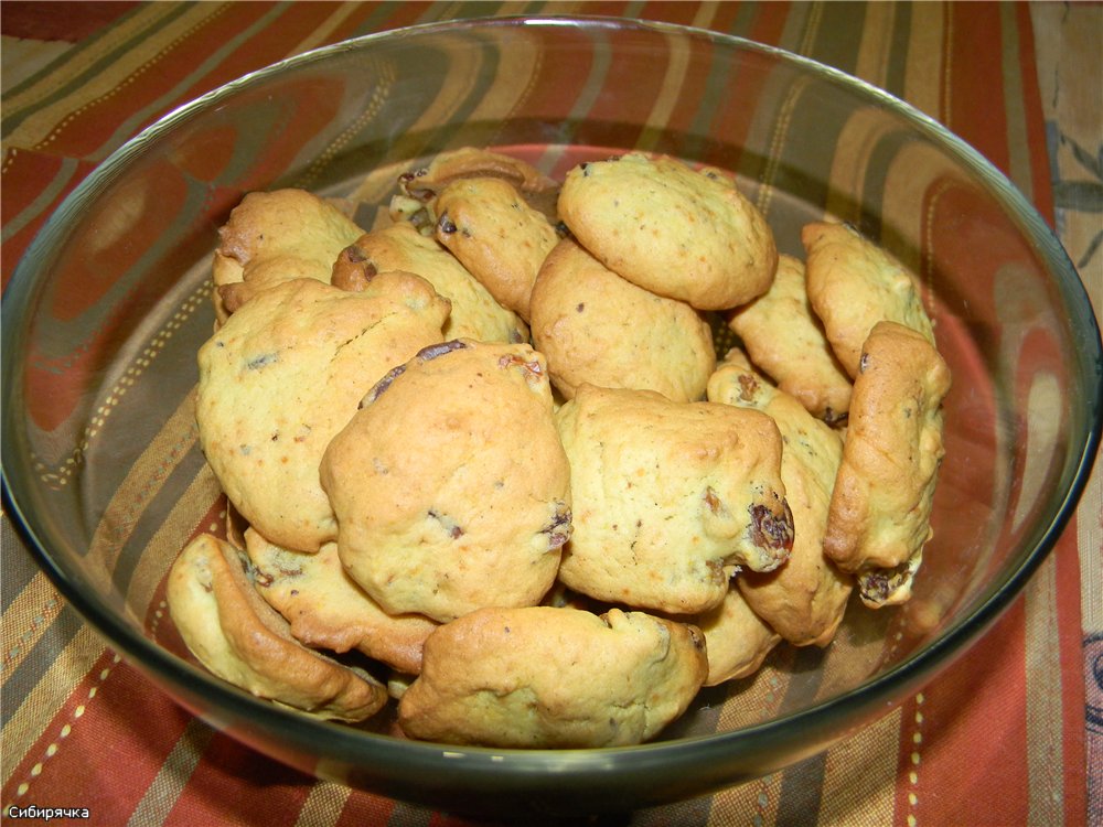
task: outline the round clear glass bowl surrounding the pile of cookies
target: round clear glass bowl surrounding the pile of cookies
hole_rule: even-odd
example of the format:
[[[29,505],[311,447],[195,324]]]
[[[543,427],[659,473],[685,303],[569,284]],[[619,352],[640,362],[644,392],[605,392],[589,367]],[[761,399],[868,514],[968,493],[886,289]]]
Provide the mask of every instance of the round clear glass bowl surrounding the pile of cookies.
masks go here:
[[[323,723],[188,655],[164,578],[225,504],[196,443],[216,230],[251,190],[386,204],[396,175],[490,147],[553,176],[629,149],[731,171],[782,251],[847,221],[919,273],[954,375],[934,538],[914,597],[852,605],[825,649],[777,649],[655,742],[442,747]],[[833,69],[731,36],[611,19],[415,26],[256,72],[128,142],[50,219],[3,300],[8,506],[67,600],[189,710],[263,753],[452,812],[593,813],[762,776],[887,713],[1020,592],[1100,437],[1099,330],[1064,250],[987,161]],[[722,350],[724,344],[720,344]]]

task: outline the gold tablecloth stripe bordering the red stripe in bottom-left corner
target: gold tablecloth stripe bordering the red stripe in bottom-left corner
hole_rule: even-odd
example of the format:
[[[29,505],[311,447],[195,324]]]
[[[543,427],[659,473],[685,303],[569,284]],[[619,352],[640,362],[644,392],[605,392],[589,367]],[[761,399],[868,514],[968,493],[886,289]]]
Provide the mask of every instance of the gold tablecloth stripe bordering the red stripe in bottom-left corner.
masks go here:
[[[12,712],[11,718],[0,730],[0,741],[3,742],[3,750],[0,750],[0,766],[6,785],[11,780],[17,764],[42,737],[54,710],[63,707],[66,698],[73,694],[88,674],[88,669],[106,651],[103,638],[93,632],[90,626],[83,625],[34,688],[28,692],[19,709]]]

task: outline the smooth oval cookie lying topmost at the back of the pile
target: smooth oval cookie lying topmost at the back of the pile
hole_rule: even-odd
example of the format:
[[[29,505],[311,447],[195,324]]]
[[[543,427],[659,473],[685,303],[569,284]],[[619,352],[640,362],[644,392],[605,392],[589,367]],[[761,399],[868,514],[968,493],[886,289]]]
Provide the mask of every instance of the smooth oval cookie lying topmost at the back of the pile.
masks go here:
[[[558,210],[610,270],[700,310],[761,296],[778,266],[769,225],[735,184],[673,158],[631,152],[580,164]]]

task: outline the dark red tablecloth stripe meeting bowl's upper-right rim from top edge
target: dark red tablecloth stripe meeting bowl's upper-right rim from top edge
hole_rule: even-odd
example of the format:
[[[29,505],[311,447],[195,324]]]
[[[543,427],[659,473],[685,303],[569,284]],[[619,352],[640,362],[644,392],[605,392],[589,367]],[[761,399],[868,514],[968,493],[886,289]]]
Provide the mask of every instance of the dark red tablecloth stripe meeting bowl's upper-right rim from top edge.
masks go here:
[[[950,126],[1005,174],[1010,171],[999,3],[947,3],[953,43]],[[977,43],[992,43],[977,49]]]

